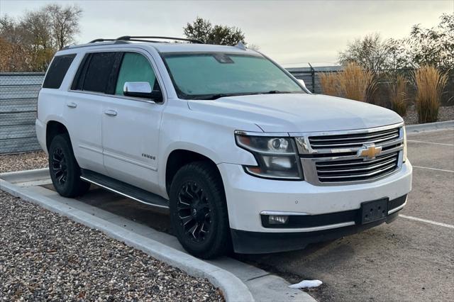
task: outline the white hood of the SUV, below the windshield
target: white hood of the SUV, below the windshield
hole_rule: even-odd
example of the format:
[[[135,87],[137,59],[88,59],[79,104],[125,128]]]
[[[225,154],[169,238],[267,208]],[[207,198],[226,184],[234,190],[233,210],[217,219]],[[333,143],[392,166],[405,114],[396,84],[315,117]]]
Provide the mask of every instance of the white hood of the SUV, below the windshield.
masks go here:
[[[387,108],[322,94],[228,96],[188,105],[194,111],[255,123],[265,132],[353,130],[402,122]]]

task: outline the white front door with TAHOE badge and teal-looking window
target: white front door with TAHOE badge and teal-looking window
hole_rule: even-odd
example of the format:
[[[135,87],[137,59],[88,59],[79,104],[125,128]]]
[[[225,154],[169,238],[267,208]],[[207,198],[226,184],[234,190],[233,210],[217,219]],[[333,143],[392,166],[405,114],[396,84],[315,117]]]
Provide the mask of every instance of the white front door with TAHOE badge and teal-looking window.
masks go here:
[[[102,145],[109,176],[157,191],[157,143],[163,101],[123,95],[126,82],[148,82],[160,91],[146,52],[123,52],[114,95],[103,103]]]

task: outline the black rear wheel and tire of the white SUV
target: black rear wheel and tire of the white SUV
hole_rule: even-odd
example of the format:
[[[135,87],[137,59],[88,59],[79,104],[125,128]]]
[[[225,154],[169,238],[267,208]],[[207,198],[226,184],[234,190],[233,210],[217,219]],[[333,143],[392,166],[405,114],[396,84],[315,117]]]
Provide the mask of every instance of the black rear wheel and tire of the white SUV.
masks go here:
[[[81,196],[90,188],[88,182],[80,179],[80,167],[67,134],[56,135],[50,142],[49,172],[52,184],[61,196]]]

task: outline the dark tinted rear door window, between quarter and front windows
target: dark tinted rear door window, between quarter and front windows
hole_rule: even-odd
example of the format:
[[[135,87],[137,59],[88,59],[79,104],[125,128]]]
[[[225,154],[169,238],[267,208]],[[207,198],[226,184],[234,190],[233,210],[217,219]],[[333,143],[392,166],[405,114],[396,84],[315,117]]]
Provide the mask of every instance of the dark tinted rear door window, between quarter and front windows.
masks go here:
[[[111,78],[117,52],[96,52],[89,58],[82,90],[105,93]]]

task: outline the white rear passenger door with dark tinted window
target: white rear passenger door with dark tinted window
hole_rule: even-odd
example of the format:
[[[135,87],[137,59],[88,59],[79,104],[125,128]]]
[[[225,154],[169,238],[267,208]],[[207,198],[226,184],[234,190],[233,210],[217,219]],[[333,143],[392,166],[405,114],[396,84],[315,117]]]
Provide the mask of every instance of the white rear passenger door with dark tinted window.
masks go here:
[[[74,154],[80,167],[106,174],[102,155],[102,108],[109,80],[115,75],[118,52],[84,55],[65,106]],[[117,63],[118,65],[118,63]],[[111,86],[111,84],[110,84]]]

